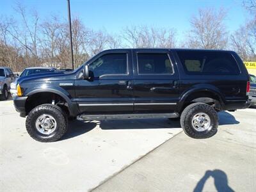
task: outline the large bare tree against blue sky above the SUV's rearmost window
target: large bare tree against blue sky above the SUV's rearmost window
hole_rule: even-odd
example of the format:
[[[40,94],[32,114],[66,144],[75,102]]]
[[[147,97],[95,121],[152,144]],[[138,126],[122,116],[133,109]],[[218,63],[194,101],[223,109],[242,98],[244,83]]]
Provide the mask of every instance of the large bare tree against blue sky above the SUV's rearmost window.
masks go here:
[[[200,9],[190,19],[187,46],[201,49],[224,49],[228,44],[227,28],[224,24],[227,12],[212,8]]]

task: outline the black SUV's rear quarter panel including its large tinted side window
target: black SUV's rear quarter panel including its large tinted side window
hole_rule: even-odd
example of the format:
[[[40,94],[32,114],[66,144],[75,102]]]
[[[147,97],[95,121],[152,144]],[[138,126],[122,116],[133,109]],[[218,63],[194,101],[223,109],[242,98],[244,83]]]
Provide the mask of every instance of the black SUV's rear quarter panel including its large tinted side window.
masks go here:
[[[248,73],[241,61],[239,67],[234,52],[177,50],[180,60],[182,92],[202,86],[214,88],[223,99],[232,102],[246,99]],[[201,84],[201,85],[200,85]],[[214,86],[214,87],[212,87]]]

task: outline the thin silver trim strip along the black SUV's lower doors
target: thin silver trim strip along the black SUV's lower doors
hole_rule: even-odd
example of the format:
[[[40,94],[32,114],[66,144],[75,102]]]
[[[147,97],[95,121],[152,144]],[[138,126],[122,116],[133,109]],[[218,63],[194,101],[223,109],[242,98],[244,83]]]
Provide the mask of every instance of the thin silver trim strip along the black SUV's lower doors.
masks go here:
[[[148,105],[175,105],[176,102],[143,102],[134,103],[136,106],[148,106]],[[133,103],[79,103],[79,106],[133,106]]]

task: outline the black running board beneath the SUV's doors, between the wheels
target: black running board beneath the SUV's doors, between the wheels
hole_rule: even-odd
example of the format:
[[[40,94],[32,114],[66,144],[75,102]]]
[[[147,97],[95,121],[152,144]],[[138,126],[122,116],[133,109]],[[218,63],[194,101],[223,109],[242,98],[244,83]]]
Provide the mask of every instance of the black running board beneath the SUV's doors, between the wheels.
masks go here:
[[[115,114],[115,115],[79,115],[77,120],[106,120],[127,118],[177,118],[179,113],[138,113],[138,114]]]

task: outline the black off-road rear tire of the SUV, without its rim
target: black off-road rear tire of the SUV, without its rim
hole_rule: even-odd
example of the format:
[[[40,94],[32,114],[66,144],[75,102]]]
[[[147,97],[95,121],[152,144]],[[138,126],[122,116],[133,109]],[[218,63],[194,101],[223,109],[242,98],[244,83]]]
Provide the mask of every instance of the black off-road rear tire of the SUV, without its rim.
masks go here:
[[[192,119],[193,119],[193,116],[196,115],[196,113],[206,113],[210,117],[211,124],[208,130],[199,132],[193,128]],[[182,111],[180,116],[180,125],[183,131],[189,137],[195,138],[195,139],[204,139],[204,138],[211,138],[211,136],[214,136],[214,134],[216,134],[216,132],[218,131],[219,120],[218,120],[218,115],[214,110],[214,108],[212,108],[208,104],[205,104],[202,102],[196,102],[196,103],[190,104],[184,109],[184,111]]]

